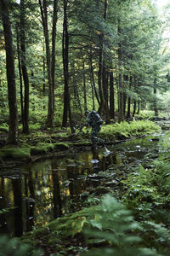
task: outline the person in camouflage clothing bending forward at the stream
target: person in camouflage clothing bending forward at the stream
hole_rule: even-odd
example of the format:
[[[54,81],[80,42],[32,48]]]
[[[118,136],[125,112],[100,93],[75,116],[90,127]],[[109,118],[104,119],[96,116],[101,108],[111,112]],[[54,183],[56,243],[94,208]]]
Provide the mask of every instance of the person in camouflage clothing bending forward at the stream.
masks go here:
[[[101,119],[99,113],[95,110],[92,112],[86,110],[85,111],[86,122],[81,126],[80,131],[84,126],[90,125],[92,127],[91,133],[91,141],[92,141],[92,148],[97,149],[97,143],[100,143],[103,147],[105,146],[105,140],[102,140],[98,137],[98,133],[101,130],[101,125],[103,124],[103,119]]]

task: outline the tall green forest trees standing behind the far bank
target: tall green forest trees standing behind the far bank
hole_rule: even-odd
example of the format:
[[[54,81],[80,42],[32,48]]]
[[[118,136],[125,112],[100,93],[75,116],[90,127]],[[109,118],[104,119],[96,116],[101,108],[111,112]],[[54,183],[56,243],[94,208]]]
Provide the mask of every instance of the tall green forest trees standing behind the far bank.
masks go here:
[[[8,143],[40,119],[74,132],[87,108],[107,124],[168,108],[160,97],[169,84],[166,9],[162,20],[150,1],[3,0],[0,8]]]

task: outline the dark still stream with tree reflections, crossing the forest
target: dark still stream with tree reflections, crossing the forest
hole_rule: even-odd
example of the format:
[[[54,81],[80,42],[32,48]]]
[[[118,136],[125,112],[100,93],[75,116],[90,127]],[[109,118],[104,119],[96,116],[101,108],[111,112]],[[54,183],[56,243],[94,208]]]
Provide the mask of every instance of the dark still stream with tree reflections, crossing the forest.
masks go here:
[[[22,236],[65,213],[80,210],[89,195],[121,189],[121,180],[139,165],[150,167],[166,132],[117,143],[93,152],[72,150],[59,157],[0,172],[0,233]],[[5,210],[4,210],[5,209]]]

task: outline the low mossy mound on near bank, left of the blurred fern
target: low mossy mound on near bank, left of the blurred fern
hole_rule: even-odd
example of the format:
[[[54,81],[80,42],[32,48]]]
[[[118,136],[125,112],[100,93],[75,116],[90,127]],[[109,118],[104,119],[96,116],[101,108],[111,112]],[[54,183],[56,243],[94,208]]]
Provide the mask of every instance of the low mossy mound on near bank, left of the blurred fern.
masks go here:
[[[44,253],[49,253],[49,255],[53,252],[56,253],[55,255],[69,255],[71,250],[81,251],[86,245],[82,234],[82,223],[91,218],[94,209],[96,210],[97,207],[87,207],[81,211],[67,214],[65,217],[57,218],[41,229],[22,236],[21,241],[31,247],[43,247]]]

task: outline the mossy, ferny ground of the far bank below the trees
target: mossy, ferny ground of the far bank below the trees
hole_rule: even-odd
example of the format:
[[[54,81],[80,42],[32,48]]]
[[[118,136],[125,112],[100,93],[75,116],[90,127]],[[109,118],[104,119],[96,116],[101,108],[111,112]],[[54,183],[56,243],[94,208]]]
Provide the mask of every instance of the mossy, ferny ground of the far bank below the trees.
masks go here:
[[[163,130],[169,129],[169,119],[155,118],[151,119],[151,121],[159,125]],[[114,125],[103,125],[103,131],[101,130],[99,132],[99,137],[105,139],[105,145],[120,143],[132,137],[144,136],[144,134],[151,133],[156,129],[154,125],[150,126],[150,124],[147,127],[146,120],[137,120],[136,127],[134,125],[131,133],[129,133],[128,130],[131,125],[127,122],[122,124],[116,125],[115,130],[112,130],[112,126]],[[62,154],[71,148],[80,148],[81,150],[89,149],[92,145],[90,132],[91,129],[84,129],[81,132],[76,130],[74,134],[71,134],[71,131],[68,129],[31,130],[29,134],[20,132],[20,142],[18,145],[8,145],[6,144],[8,132],[0,130],[0,167],[11,167],[13,165],[20,165],[26,161],[41,160],[56,154]]]

